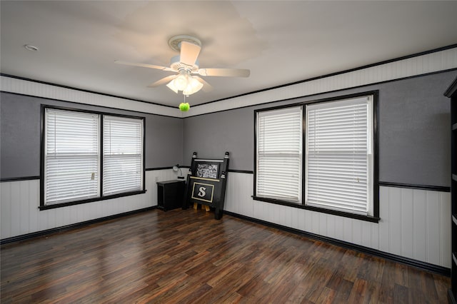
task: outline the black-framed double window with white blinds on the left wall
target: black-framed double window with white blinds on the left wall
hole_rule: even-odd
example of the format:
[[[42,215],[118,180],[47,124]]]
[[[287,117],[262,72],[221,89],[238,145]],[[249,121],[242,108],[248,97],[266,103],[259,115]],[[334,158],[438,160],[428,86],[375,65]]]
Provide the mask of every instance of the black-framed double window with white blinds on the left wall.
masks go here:
[[[144,118],[44,106],[43,126],[40,208],[144,193]]]

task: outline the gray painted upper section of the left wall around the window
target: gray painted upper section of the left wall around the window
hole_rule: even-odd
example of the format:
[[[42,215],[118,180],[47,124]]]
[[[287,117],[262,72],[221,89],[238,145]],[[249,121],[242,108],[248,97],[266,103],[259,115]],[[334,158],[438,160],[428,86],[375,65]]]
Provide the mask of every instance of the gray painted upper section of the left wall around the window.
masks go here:
[[[2,179],[39,176],[41,104],[145,117],[145,168],[170,167],[176,163],[182,163],[183,121],[181,118],[1,92],[0,177]]]

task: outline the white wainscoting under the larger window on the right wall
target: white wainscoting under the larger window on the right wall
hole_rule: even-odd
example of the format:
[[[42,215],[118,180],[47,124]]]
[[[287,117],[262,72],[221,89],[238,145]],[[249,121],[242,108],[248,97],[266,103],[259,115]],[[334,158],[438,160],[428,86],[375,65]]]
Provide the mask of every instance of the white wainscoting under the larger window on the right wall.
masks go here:
[[[451,194],[381,186],[381,221],[371,223],[254,201],[253,174],[230,172],[224,209],[362,245],[405,258],[451,267]]]

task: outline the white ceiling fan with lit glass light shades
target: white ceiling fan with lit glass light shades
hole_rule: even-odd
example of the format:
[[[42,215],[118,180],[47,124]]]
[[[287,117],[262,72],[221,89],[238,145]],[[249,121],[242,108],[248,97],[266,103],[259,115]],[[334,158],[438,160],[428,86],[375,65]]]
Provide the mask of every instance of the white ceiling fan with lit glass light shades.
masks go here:
[[[184,95],[189,96],[200,91],[211,91],[212,87],[200,76],[224,76],[224,77],[248,77],[249,70],[246,69],[200,69],[199,57],[201,50],[201,41],[193,36],[179,35],[169,40],[169,46],[175,51],[179,51],[178,56],[171,58],[170,67],[154,66],[153,64],[137,64],[128,61],[114,61],[116,64],[126,64],[128,66],[141,66],[150,69],[159,69],[162,71],[173,71],[177,74],[166,76],[151,83],[149,87],[155,88],[162,84],[168,83],[168,86],[175,93],[182,91]],[[199,76],[192,76],[197,74]]]

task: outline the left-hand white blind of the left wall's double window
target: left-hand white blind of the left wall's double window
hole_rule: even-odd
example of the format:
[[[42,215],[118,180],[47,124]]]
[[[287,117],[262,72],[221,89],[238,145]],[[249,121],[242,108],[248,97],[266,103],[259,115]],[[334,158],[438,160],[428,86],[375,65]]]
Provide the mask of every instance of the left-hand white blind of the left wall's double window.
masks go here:
[[[45,110],[45,205],[99,196],[99,115]]]

